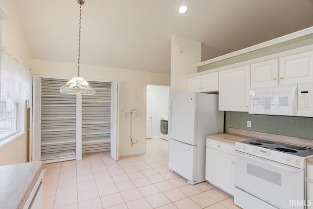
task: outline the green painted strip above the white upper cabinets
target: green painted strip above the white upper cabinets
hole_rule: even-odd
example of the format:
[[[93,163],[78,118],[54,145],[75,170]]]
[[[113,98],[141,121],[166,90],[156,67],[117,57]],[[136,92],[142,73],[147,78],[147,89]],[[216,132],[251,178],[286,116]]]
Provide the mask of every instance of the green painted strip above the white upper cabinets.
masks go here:
[[[302,36],[296,39],[292,39],[290,41],[282,42],[276,45],[254,50],[245,54],[230,57],[228,59],[224,59],[218,62],[200,66],[198,67],[198,72],[212,70],[212,69],[220,68],[223,66],[227,66],[227,65],[231,65],[231,64],[235,64],[239,62],[244,62],[247,60],[252,60],[252,59],[259,58],[259,57],[264,57],[267,55],[276,54],[279,52],[291,50],[294,48],[299,48],[302,46],[308,46],[312,44],[313,44],[313,34],[309,34],[309,35]]]

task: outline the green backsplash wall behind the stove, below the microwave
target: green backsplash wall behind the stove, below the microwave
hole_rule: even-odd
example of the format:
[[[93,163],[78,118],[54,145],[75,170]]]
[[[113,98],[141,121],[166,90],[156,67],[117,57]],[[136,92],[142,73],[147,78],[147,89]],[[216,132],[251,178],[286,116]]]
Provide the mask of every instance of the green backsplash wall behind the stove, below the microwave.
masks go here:
[[[246,121],[251,120],[251,128]],[[239,128],[304,139],[313,139],[313,117],[265,116],[244,112],[225,112],[225,131]]]

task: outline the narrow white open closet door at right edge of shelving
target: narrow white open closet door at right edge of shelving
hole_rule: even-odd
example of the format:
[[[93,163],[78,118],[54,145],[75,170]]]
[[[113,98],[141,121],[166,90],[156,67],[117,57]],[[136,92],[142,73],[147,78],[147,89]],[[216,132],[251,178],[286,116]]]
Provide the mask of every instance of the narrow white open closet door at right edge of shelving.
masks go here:
[[[118,161],[118,83],[111,85],[111,157]]]

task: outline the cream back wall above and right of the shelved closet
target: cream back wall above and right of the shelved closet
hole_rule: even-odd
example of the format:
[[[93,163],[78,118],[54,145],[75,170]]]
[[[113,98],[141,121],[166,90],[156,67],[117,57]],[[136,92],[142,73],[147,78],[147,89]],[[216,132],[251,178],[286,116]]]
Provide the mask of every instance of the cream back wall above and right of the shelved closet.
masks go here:
[[[72,78],[77,74],[76,63],[61,63],[47,60],[32,60],[32,73]],[[81,65],[81,76],[86,80],[111,80],[119,82],[119,155],[132,155],[145,152],[145,108],[146,83],[169,85],[170,75],[148,71],[107,68]],[[130,113],[123,110],[142,110],[133,114],[133,139],[138,140],[130,146]],[[137,115],[137,116],[136,116]]]

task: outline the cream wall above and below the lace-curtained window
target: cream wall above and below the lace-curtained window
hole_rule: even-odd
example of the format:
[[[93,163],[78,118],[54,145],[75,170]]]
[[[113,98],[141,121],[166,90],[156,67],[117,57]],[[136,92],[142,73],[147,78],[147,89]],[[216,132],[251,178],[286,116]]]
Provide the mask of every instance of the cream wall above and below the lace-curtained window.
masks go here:
[[[2,46],[31,68],[31,55],[14,2],[13,0],[0,0],[0,8],[9,18],[2,22]],[[0,165],[28,162],[28,111],[29,109],[25,111],[25,131],[27,133],[0,147]]]

